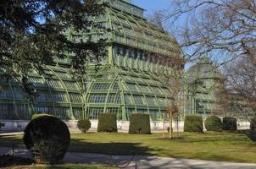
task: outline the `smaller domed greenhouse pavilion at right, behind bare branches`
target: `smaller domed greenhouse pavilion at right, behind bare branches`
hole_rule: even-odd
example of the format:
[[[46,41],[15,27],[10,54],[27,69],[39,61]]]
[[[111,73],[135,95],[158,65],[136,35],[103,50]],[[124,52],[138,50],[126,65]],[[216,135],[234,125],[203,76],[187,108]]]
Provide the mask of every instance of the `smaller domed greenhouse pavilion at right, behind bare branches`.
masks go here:
[[[187,112],[208,116],[220,112],[218,91],[224,76],[207,57],[189,68],[187,74]]]

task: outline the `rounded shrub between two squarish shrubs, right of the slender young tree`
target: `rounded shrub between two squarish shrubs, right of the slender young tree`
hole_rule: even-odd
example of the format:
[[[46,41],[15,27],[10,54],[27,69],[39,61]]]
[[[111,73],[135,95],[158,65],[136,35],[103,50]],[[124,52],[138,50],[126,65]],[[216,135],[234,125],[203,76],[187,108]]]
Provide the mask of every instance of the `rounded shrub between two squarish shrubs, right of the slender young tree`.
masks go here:
[[[207,117],[204,121],[204,126],[207,129],[207,131],[216,131],[220,132],[222,131],[222,123],[220,117],[216,116],[210,116]]]

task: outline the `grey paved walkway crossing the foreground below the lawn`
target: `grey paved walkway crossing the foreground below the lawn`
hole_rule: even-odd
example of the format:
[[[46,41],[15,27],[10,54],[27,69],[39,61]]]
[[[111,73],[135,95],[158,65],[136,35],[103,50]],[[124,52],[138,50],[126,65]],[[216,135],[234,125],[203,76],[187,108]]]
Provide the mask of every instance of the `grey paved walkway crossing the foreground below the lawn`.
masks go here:
[[[12,149],[8,147],[0,147],[0,154],[12,154]],[[14,150],[14,155],[31,157],[28,150]],[[64,157],[67,163],[97,163],[109,164],[123,167],[132,159],[130,155],[99,155],[91,153],[72,153],[68,152]],[[256,164],[251,163],[235,163],[220,161],[201,161],[188,159],[175,159],[157,156],[138,155],[131,161],[126,168],[171,168],[171,169],[255,169]]]

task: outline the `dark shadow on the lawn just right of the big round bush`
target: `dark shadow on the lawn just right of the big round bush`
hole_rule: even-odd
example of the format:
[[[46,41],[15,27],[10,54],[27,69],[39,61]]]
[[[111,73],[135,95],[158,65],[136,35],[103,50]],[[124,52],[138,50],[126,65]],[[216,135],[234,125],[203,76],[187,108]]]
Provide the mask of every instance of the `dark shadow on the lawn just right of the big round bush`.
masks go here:
[[[93,143],[84,139],[72,139],[70,143],[71,152],[86,152],[105,155],[154,155],[153,150],[159,151],[140,143],[126,142],[109,142],[109,143]]]

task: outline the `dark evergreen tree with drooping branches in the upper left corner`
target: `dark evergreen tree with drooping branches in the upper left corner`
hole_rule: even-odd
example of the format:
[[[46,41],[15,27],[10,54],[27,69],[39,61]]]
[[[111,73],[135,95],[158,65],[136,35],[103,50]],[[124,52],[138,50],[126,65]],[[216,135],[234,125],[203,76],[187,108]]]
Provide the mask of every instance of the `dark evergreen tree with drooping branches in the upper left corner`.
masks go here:
[[[24,79],[31,69],[43,73],[54,57],[72,57],[72,66],[80,72],[87,61],[98,62],[105,52],[105,40],[91,41],[92,35],[87,34],[93,20],[103,16],[104,4],[97,2],[2,0],[0,74]],[[106,33],[100,23],[94,23],[93,29],[98,35]]]

